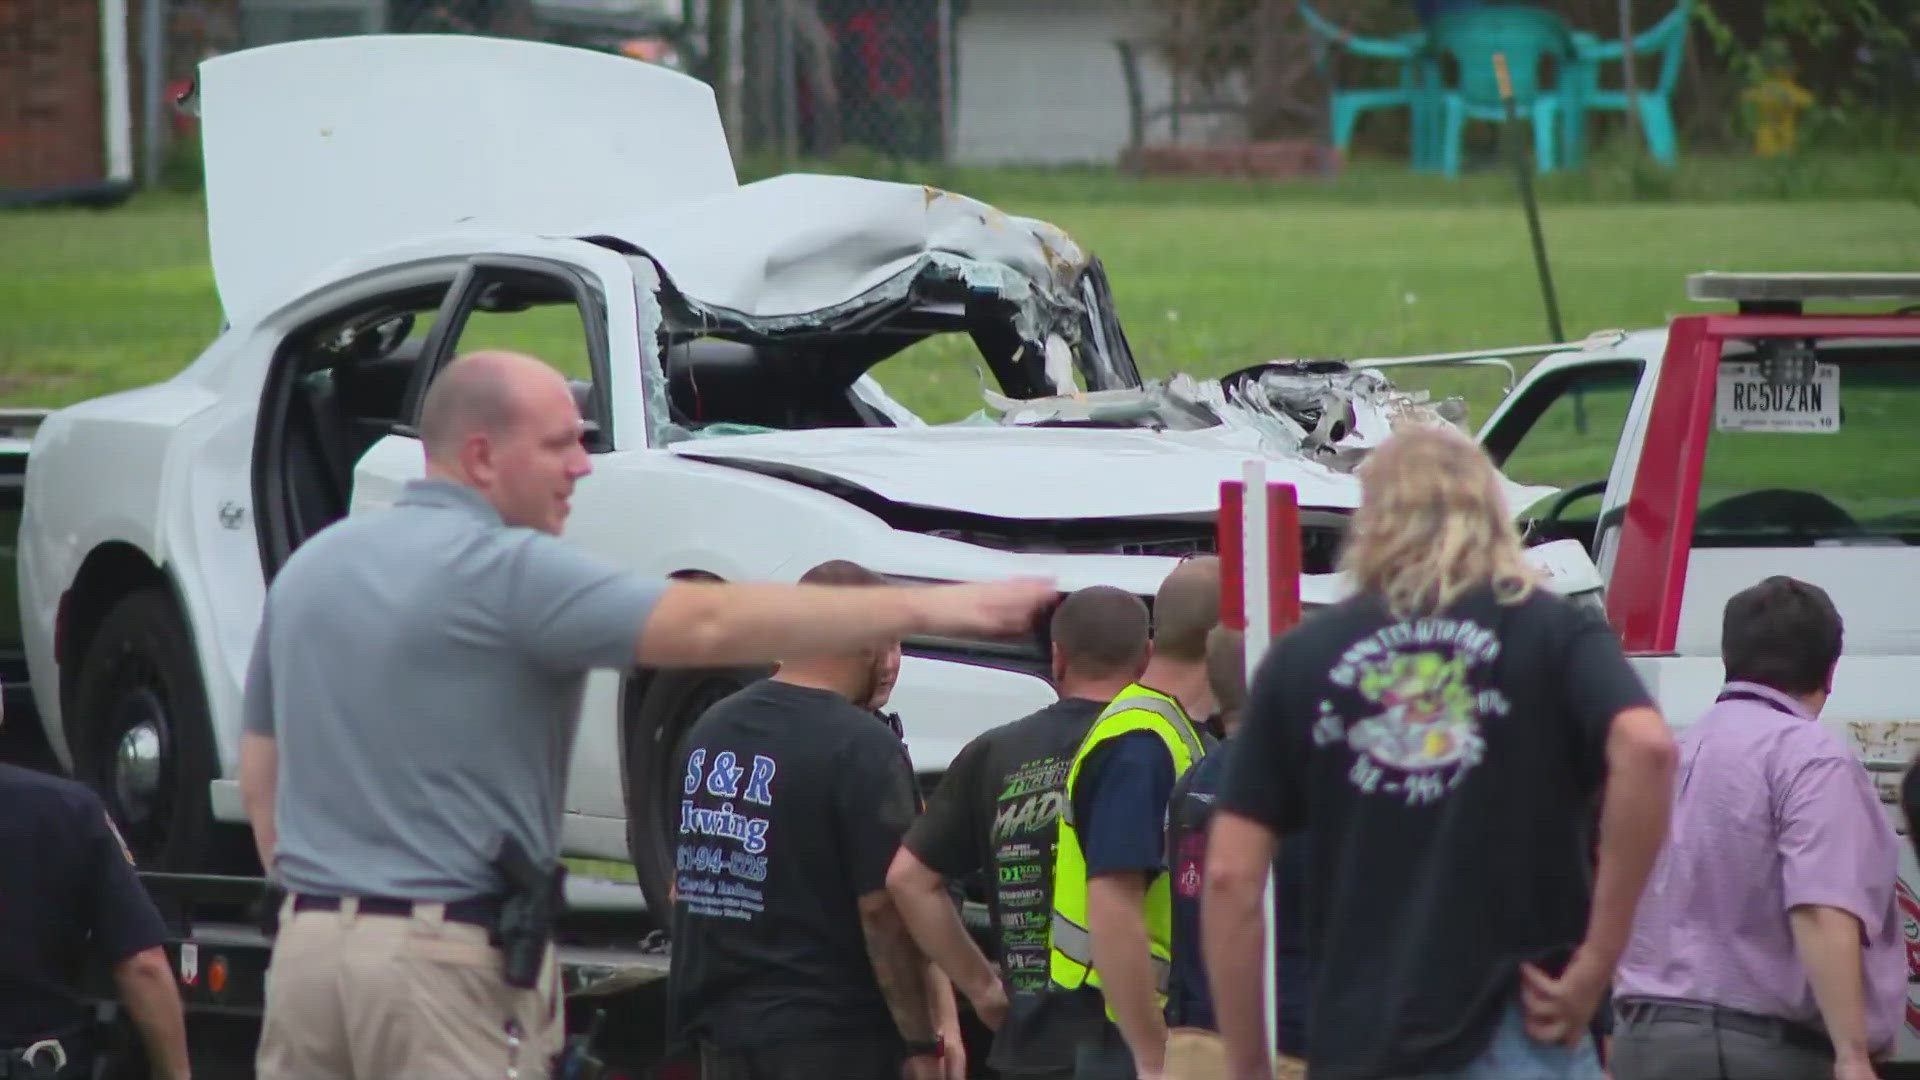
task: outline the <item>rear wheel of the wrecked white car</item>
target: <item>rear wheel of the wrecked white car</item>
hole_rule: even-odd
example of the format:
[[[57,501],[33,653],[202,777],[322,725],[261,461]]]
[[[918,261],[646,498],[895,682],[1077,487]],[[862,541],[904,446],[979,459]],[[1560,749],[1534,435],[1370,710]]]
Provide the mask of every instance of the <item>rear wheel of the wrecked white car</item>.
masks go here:
[[[75,778],[108,805],[134,861],[152,871],[205,865],[215,774],[207,694],[173,600],[121,598],[86,646],[71,698]]]

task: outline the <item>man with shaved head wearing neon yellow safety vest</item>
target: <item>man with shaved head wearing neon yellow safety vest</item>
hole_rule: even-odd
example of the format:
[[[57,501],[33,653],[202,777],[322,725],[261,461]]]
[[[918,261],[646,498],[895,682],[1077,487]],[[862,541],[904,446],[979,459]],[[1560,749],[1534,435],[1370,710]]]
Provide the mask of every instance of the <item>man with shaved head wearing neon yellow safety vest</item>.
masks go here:
[[[1052,984],[1087,1034],[1075,1080],[1165,1072],[1173,899],[1165,817],[1173,784],[1206,755],[1213,711],[1206,638],[1219,625],[1219,559],[1188,559],[1154,594],[1146,671],[1100,713],[1068,767],[1058,821]]]

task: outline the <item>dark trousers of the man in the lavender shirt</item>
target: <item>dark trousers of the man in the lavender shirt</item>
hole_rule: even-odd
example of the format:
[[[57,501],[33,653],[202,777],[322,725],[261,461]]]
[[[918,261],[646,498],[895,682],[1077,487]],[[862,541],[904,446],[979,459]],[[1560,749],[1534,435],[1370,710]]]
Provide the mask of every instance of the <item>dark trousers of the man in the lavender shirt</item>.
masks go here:
[[[1724,1013],[1724,1011],[1722,1011]],[[1613,1024],[1613,1080],[1828,1080],[1834,1051],[1789,1040],[1786,1024],[1730,1022],[1711,1013],[1692,1019],[1640,1015],[1622,1003]]]

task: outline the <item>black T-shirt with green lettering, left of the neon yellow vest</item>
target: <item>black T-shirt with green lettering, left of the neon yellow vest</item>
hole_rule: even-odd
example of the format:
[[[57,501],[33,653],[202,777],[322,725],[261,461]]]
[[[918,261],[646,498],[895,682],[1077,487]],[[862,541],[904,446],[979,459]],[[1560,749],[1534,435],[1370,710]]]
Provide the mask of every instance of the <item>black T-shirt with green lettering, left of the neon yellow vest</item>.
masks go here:
[[[1056,821],[1068,767],[1106,701],[1064,698],[983,732],[954,755],[906,849],[947,880],[989,871],[1000,970],[1010,992],[1046,990]]]

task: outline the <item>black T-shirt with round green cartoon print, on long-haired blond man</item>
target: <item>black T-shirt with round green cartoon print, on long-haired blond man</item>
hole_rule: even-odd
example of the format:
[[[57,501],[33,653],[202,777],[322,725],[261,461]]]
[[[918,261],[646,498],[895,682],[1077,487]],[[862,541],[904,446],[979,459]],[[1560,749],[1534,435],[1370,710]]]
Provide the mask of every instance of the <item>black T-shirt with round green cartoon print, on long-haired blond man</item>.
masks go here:
[[[1542,590],[1407,623],[1357,596],[1275,642],[1219,805],[1313,830],[1313,1076],[1459,1068],[1521,963],[1565,963],[1607,730],[1647,703],[1607,623]]]

